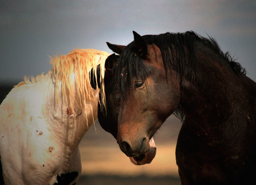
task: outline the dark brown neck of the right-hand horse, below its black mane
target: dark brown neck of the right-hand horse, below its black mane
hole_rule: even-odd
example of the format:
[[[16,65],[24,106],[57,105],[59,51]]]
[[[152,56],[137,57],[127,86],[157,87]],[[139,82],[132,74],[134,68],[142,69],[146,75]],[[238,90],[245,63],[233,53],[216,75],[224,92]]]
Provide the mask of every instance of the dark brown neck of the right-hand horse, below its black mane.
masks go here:
[[[205,49],[197,51],[195,85],[183,80],[181,107],[186,121],[203,131],[225,124],[230,116],[248,120],[255,113],[256,84],[245,75],[235,74],[226,61]],[[248,97],[254,97],[253,106]],[[245,112],[245,110],[247,110]],[[252,120],[251,120],[252,121]],[[236,122],[239,124],[239,121]]]

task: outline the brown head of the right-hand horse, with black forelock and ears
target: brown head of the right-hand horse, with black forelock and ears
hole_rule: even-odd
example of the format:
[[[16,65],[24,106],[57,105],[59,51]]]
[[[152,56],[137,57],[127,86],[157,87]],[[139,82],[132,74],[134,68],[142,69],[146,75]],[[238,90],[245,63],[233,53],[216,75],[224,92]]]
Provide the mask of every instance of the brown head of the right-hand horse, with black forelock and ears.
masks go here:
[[[108,44],[120,56],[107,58],[104,78],[107,110],[111,110],[107,111],[107,119],[112,123],[109,125],[115,125],[112,134],[128,157],[150,151],[150,139],[180,100],[179,80],[174,72],[173,78],[168,75],[166,79],[159,48],[133,33],[134,41],[126,47]]]

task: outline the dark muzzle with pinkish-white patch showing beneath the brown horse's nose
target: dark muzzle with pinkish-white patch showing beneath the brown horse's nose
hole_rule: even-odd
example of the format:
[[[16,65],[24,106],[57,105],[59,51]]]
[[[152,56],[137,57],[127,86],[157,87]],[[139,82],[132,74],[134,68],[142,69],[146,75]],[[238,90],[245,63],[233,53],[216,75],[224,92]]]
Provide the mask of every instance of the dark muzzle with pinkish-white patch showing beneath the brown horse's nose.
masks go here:
[[[130,157],[130,161],[135,165],[150,164],[150,162],[156,156],[156,145],[154,144],[153,137],[149,140],[150,149],[144,155],[137,157]]]

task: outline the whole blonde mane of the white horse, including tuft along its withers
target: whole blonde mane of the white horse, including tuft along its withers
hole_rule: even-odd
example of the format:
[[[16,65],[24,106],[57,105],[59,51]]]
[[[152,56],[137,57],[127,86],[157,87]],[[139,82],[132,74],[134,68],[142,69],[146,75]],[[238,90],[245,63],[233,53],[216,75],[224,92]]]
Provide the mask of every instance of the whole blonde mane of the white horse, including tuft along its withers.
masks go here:
[[[74,49],[67,55],[60,55],[51,58],[52,68],[48,72],[54,74],[55,78],[55,105],[59,102],[58,91],[61,88],[62,101],[64,105],[70,106],[72,108],[73,115],[75,115],[74,105],[75,102],[80,108],[82,105],[88,105],[86,100],[92,100],[93,98],[93,88],[90,85],[90,70],[93,68],[94,77],[96,77],[97,82],[97,65],[100,65],[100,86],[102,89],[102,100],[103,106],[105,105],[105,91],[104,91],[104,63],[109,54],[105,51],[98,51],[93,49]],[[20,82],[14,87],[19,87],[23,84],[36,83],[44,77],[43,73],[37,75],[36,77],[24,77],[24,81]],[[75,94],[72,92],[71,81],[75,78],[74,87],[76,89],[76,94],[79,95],[79,101],[74,100]],[[94,91],[95,92],[95,91]],[[88,107],[86,107],[88,108]],[[90,106],[92,109],[92,105]],[[74,116],[75,118],[76,116]]]

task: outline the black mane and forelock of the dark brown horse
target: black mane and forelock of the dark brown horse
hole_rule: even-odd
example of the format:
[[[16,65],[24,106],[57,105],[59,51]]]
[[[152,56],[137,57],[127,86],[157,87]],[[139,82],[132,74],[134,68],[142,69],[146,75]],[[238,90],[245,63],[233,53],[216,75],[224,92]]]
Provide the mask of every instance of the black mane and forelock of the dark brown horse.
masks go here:
[[[197,68],[197,42],[202,43],[222,57],[223,60],[226,61],[226,65],[229,65],[234,73],[238,75],[246,74],[245,69],[242,68],[239,63],[235,62],[228,52],[223,53],[223,51],[220,50],[219,45],[212,37],[205,38],[198,36],[193,31],[187,31],[186,33],[145,35],[142,37],[147,44],[155,44],[160,48],[166,75],[168,75],[170,69],[174,69],[177,72],[178,78],[184,77],[187,80],[194,80]],[[188,51],[188,59],[185,57],[185,48]],[[147,56],[139,56],[139,54],[134,51],[134,41],[123,50],[114,68],[114,81],[116,87],[118,87],[117,91],[120,92],[122,97],[125,98],[127,96],[127,90],[131,88],[134,78],[140,77],[144,81],[147,77],[148,71],[142,61],[146,57]],[[174,60],[172,60],[173,58]]]

